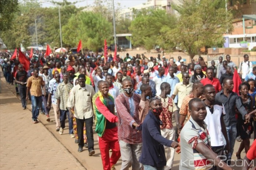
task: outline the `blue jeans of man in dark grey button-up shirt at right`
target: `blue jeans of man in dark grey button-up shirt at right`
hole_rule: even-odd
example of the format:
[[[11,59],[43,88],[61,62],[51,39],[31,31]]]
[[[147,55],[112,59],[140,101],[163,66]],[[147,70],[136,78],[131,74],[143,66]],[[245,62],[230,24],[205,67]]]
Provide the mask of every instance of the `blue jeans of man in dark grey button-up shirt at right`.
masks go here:
[[[230,152],[227,154],[227,160],[229,160],[233,155],[234,146],[235,146],[236,137],[237,137],[236,124],[232,126],[226,126],[226,130],[227,130],[227,137],[229,138],[229,143],[230,143]]]

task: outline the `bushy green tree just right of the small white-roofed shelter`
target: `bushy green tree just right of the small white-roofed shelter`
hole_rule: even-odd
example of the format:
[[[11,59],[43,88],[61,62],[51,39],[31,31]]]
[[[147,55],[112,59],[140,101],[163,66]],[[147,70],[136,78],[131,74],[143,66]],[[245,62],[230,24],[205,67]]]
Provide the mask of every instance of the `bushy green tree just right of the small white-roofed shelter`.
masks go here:
[[[135,19],[129,30],[132,33],[133,46],[143,46],[150,51],[158,45],[166,50],[172,48],[173,43],[165,38],[166,28],[172,29],[176,25],[176,17],[167,14],[165,10],[151,9],[133,10]]]

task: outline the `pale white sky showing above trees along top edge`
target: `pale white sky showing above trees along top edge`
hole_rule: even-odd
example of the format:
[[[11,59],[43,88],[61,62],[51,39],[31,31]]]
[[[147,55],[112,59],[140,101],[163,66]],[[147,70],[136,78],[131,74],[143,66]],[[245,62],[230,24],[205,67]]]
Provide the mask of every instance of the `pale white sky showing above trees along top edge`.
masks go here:
[[[54,5],[50,4],[50,0],[38,0],[38,1],[41,2],[42,7],[54,7]],[[54,1],[62,1],[62,0],[54,0]],[[78,3],[76,3],[77,7],[86,7],[87,5],[93,5],[94,3],[94,0],[68,0],[68,1],[70,2],[78,1]],[[114,0],[115,4],[120,3],[120,6],[122,9],[133,7],[146,2],[147,0]]]

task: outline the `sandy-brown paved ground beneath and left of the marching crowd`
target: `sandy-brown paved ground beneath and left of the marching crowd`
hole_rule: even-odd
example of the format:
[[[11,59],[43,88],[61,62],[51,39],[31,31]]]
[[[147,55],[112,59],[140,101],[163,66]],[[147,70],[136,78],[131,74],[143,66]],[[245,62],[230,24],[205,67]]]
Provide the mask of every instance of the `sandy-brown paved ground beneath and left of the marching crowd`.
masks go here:
[[[1,72],[2,75],[2,72]],[[22,110],[19,96],[14,85],[5,83],[1,78],[0,94],[0,169],[88,169],[101,170],[101,155],[97,135],[94,134],[95,154],[89,157],[87,149],[78,153],[78,145],[68,134],[68,122],[63,135],[55,130],[53,109],[50,111],[51,122],[39,115],[39,123],[31,120],[31,107]],[[18,97],[18,98],[17,98]],[[174,122],[173,122],[174,123]],[[174,123],[175,124],[175,123]],[[251,139],[252,143],[253,139]],[[235,151],[240,143],[236,142]],[[110,153],[111,154],[111,153]],[[245,153],[242,152],[241,157]],[[236,159],[234,154],[232,157]],[[180,155],[175,153],[172,170],[178,170]],[[121,159],[116,164],[120,169]],[[234,167],[240,170],[240,167]]]

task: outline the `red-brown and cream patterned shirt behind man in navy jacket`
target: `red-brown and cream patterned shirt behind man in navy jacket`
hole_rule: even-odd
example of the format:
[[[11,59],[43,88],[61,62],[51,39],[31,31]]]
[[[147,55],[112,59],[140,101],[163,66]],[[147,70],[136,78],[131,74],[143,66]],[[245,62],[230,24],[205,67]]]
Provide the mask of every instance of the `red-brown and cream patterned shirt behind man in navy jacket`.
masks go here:
[[[172,98],[167,97],[166,99],[164,99],[160,96],[157,97],[161,99],[163,105],[163,111],[159,116],[159,118],[163,122],[160,129],[172,129],[172,114],[174,111],[178,110],[178,108],[176,107],[176,104],[174,103]]]

